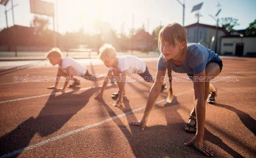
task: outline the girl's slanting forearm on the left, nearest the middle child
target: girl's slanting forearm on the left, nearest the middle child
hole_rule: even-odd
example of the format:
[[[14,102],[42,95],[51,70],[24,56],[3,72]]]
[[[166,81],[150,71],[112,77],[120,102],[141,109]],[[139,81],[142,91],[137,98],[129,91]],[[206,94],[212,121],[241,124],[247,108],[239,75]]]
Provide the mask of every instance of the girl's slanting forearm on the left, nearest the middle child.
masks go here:
[[[153,85],[153,87],[150,89],[149,95],[148,95],[148,101],[146,105],[146,109],[143,115],[143,118],[147,118],[152,110],[152,108],[155,105],[156,99],[160,94],[161,89],[157,88]]]

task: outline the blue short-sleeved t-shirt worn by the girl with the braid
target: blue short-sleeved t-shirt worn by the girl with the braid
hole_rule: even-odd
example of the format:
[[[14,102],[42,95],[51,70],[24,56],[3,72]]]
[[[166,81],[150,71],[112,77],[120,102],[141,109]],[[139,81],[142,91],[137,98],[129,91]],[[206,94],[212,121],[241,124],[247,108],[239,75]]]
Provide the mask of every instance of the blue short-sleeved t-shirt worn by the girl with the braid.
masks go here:
[[[172,71],[178,73],[198,74],[205,69],[206,64],[220,61],[220,57],[211,49],[197,43],[188,43],[188,52],[181,66],[175,66],[171,59]],[[158,59],[157,70],[166,70],[166,59],[161,54]]]

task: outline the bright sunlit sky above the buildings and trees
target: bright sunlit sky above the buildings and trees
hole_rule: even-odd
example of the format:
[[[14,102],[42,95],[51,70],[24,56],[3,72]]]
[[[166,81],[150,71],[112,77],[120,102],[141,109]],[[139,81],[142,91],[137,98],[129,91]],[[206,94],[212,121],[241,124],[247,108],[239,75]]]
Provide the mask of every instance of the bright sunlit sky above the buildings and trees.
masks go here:
[[[61,34],[76,32],[83,28],[84,33],[97,33],[99,22],[107,22],[116,32],[129,34],[134,29],[144,28],[149,33],[160,25],[177,22],[182,25],[182,5],[177,0],[44,0],[56,3],[55,30]],[[238,19],[239,26],[234,29],[245,29],[256,19],[256,0],[180,0],[185,3],[185,26],[196,23],[194,5],[202,3],[199,23],[216,25],[209,16],[215,16],[221,8],[219,18]],[[220,7],[216,7],[220,2]],[[53,18],[30,13],[29,0],[13,0],[15,25],[30,26],[33,17],[48,18],[49,29],[53,29]],[[11,0],[6,9],[11,8]],[[8,11],[8,26],[13,26],[12,11]],[[134,18],[132,18],[134,17]],[[217,18],[217,17],[216,17]],[[132,20],[133,19],[133,20]],[[132,22],[133,21],[133,22]],[[133,23],[133,25],[132,25]],[[6,27],[5,7],[0,5],[0,29]]]

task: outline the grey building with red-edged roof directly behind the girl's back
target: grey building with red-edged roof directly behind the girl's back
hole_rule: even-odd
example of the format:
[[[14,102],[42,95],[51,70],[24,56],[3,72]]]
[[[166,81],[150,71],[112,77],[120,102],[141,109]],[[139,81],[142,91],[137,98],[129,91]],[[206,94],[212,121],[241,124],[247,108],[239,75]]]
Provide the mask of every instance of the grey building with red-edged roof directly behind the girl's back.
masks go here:
[[[214,50],[217,54],[220,54],[221,37],[224,35],[228,35],[226,29],[224,27],[217,27],[200,23],[198,23],[198,27],[198,41],[196,41],[197,23],[185,26],[185,28],[187,29],[188,42],[200,43],[206,48]],[[216,36],[218,37],[217,50],[215,50]]]

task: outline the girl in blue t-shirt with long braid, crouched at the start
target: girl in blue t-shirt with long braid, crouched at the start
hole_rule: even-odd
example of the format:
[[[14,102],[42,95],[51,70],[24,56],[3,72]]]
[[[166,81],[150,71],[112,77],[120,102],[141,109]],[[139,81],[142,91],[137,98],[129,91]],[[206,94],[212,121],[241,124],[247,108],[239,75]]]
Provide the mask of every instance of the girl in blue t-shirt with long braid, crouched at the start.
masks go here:
[[[161,29],[158,38],[158,48],[161,55],[158,59],[156,81],[152,86],[143,118],[139,122],[130,122],[131,125],[141,126],[142,130],[148,121],[163,83],[162,77],[166,70],[170,81],[167,101],[172,102],[172,71],[187,73],[190,79],[200,77],[216,77],[222,69],[220,57],[210,49],[196,43],[187,43],[187,34],[183,26],[177,23],[168,24]],[[196,135],[185,145],[193,145],[206,155],[213,155],[212,150],[203,143],[205,124],[205,102],[215,104],[217,90],[209,81],[193,80],[194,106],[190,113],[186,132],[196,132]]]

